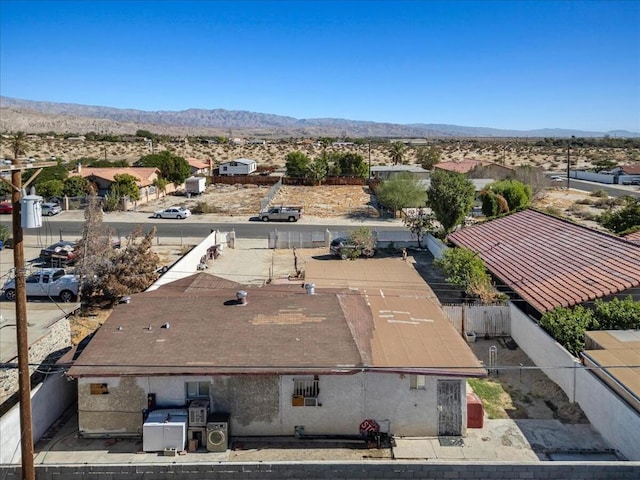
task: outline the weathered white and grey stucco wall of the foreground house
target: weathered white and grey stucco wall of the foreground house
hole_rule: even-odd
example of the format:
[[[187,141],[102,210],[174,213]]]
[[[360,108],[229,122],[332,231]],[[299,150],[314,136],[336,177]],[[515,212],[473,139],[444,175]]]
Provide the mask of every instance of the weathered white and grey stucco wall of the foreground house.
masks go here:
[[[360,424],[374,419],[402,436],[438,434],[437,381],[426,377],[425,388],[410,389],[409,375],[362,372],[321,375],[318,406],[294,406],[294,380],[308,376],[234,375],[80,378],[78,421],[84,436],[139,435],[149,393],[159,407],[186,404],[186,382],[208,382],[213,411],[231,414],[233,435],[359,434]],[[466,381],[460,380],[461,429],[466,432]],[[94,393],[91,393],[94,384]],[[106,384],[108,394],[96,394]]]

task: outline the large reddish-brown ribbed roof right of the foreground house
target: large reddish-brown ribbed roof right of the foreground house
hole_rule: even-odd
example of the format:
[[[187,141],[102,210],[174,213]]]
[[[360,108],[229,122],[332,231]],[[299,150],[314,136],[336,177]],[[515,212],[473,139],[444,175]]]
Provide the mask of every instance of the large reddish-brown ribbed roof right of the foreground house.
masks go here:
[[[640,246],[535,210],[449,235],[540,313],[640,285]]]

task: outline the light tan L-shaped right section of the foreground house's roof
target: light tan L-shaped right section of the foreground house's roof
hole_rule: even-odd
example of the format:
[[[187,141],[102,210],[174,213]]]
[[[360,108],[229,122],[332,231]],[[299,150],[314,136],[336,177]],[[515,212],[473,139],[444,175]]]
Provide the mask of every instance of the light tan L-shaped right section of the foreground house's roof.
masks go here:
[[[368,337],[372,365],[478,375],[473,368],[478,359],[411,262],[399,258],[308,262],[305,279],[320,288],[349,288],[364,296],[373,317]],[[347,311],[351,319],[353,310]]]

